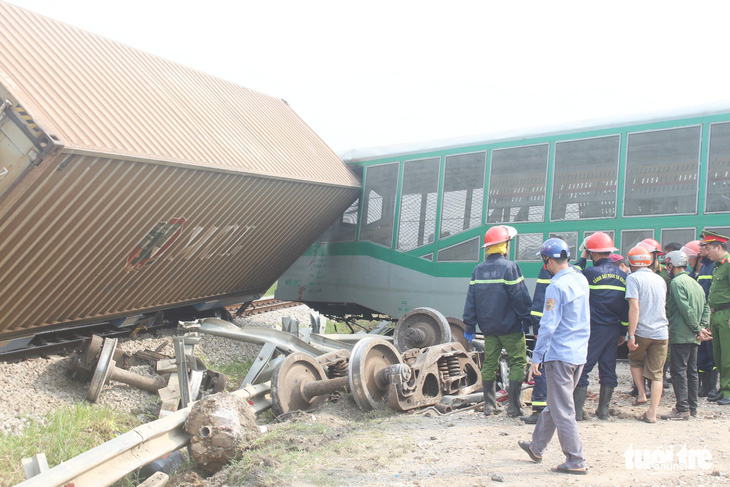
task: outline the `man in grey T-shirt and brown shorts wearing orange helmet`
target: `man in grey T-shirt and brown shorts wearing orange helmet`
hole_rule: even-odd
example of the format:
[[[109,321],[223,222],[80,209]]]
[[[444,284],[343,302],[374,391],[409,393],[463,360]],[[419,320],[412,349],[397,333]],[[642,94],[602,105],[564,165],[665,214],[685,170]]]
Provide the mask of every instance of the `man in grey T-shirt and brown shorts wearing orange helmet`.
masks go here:
[[[646,404],[644,378],[651,382],[649,410],[641,420],[656,423],[657,408],[662,397],[664,363],[667,360],[667,285],[656,273],[658,261],[641,245],[629,251],[631,274],[626,278],[626,300],[629,302],[629,366],[639,390],[634,405]]]

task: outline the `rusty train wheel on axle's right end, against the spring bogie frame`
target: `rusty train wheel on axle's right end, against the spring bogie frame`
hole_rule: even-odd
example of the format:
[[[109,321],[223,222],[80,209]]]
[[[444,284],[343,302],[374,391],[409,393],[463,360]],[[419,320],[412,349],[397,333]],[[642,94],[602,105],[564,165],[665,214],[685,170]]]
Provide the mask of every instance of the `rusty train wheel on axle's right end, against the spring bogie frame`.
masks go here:
[[[382,338],[363,338],[350,355],[350,391],[363,411],[372,411],[383,401],[388,383],[381,373],[391,365],[403,364],[398,350]]]

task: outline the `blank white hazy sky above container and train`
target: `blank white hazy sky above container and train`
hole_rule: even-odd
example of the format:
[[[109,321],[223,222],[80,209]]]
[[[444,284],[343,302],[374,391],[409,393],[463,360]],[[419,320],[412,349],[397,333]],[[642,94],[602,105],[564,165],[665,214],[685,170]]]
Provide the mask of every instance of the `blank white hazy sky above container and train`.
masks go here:
[[[730,99],[725,1],[10,2],[284,98],[336,151]]]

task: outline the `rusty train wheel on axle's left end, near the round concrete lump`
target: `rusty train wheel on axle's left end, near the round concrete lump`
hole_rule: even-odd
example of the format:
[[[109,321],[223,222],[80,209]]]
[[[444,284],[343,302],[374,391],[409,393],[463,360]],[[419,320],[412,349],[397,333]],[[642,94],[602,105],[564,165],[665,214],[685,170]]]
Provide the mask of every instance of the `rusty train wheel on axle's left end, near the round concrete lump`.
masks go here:
[[[308,399],[303,387],[327,379],[324,368],[309,354],[292,353],[279,364],[271,376],[271,411],[281,416],[289,411],[306,411],[321,406],[327,395]]]

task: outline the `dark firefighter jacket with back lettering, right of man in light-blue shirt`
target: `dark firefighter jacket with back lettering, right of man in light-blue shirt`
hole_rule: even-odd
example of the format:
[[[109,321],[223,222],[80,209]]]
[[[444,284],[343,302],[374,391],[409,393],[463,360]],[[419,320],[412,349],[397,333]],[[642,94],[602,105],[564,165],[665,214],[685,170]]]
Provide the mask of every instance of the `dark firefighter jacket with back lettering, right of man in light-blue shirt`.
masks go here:
[[[628,326],[626,273],[608,258],[597,260],[593,266],[586,266],[586,260],[581,258],[577,265],[583,268],[591,290],[591,327]]]

